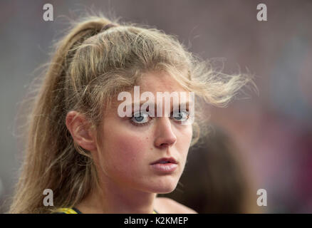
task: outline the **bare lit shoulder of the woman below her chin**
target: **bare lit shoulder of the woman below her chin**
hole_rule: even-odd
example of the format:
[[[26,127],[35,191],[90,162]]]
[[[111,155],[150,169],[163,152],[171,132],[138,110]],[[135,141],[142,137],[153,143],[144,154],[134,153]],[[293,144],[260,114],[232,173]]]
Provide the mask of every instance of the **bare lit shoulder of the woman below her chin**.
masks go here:
[[[156,197],[156,210],[164,214],[198,214],[180,202],[167,197]]]

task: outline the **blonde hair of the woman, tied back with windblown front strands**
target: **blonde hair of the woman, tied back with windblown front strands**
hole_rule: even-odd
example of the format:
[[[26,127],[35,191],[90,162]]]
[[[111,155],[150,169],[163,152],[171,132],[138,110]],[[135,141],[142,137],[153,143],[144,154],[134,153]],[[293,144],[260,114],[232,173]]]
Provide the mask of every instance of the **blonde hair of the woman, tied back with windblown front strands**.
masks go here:
[[[156,28],[118,23],[102,15],[83,18],[56,43],[43,81],[32,92],[25,157],[9,212],[49,213],[73,207],[87,196],[98,185],[97,172],[90,153],[66,128],[66,114],[77,110],[85,115],[100,140],[103,115],[116,95],[152,71],[169,73],[183,88],[194,91],[198,101],[219,107],[226,106],[241,87],[254,85],[246,74],[214,71],[175,36]],[[45,189],[53,190],[54,207],[43,205]]]

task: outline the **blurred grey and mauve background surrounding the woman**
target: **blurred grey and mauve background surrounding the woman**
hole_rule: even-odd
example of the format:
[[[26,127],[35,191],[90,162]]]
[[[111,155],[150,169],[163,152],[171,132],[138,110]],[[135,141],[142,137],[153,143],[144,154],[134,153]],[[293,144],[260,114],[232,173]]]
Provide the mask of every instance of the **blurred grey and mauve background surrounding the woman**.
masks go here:
[[[54,21],[43,21],[43,5]],[[264,3],[268,21],[257,21]],[[256,76],[259,96],[209,108],[214,133],[189,152],[166,197],[197,212],[312,212],[312,1],[1,1],[0,212],[17,181],[23,142],[16,115],[52,41],[84,9],[175,34],[197,56]],[[267,206],[256,191],[267,192]]]

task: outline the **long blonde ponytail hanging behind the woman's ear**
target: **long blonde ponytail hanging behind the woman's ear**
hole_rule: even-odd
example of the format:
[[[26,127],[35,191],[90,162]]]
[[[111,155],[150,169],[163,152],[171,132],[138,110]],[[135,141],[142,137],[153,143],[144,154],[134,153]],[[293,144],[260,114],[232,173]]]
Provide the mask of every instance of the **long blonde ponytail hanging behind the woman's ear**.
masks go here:
[[[83,41],[112,26],[117,24],[103,17],[89,18],[57,43],[29,114],[24,164],[10,213],[48,213],[57,207],[71,207],[97,182],[90,156],[73,142],[65,125],[68,109],[73,108],[66,105],[73,97],[68,68]],[[52,209],[43,205],[45,189],[53,190]]]

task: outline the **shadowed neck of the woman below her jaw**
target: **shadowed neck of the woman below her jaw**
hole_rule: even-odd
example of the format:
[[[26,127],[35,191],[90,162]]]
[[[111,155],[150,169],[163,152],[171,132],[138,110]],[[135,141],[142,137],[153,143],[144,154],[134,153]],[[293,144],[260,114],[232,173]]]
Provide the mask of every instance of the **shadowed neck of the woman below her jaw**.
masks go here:
[[[120,186],[108,178],[100,178],[100,186],[90,192],[77,208],[83,213],[150,214],[156,193]]]

